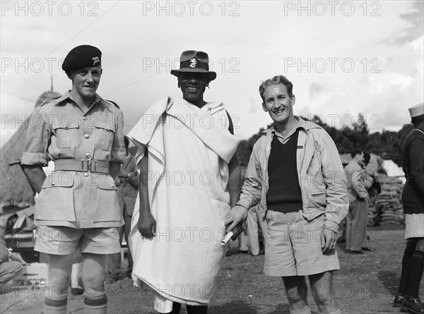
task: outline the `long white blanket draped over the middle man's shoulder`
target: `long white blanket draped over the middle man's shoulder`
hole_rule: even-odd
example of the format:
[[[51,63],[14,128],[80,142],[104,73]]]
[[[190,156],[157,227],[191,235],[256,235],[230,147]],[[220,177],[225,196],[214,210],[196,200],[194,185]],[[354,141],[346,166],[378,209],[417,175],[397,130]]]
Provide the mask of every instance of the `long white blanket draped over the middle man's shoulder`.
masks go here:
[[[133,278],[171,301],[207,304],[225,255],[228,162],[240,140],[228,131],[223,104],[199,109],[170,97],[153,104],[129,137],[139,147],[138,169],[148,150],[148,195],[157,223],[155,237],[141,237],[137,200],[129,238]]]

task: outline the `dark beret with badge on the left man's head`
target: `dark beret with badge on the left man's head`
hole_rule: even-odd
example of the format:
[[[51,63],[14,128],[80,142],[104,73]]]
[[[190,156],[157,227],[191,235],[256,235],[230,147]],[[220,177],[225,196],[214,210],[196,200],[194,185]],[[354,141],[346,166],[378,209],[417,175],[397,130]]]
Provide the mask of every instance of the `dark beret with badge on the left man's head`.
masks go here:
[[[73,71],[87,66],[100,66],[102,63],[102,52],[100,49],[82,44],[73,48],[64,59],[62,70]]]

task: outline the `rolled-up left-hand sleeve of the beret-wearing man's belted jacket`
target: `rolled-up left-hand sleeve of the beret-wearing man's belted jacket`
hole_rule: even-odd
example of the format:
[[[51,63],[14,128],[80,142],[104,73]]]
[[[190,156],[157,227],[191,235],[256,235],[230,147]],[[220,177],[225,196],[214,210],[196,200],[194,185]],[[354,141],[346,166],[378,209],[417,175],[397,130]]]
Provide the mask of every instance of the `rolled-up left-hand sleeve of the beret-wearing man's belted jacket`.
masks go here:
[[[21,164],[47,167],[49,163],[47,150],[49,148],[50,128],[42,107],[34,109],[26,126],[28,128]]]

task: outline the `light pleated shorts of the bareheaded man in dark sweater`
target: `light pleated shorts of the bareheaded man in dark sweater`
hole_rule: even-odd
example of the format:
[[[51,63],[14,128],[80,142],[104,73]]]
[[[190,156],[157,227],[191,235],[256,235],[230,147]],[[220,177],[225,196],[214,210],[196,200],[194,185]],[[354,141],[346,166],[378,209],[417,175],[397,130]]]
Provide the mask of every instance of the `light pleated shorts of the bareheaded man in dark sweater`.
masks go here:
[[[324,215],[308,222],[298,212],[266,213],[264,272],[269,276],[307,276],[339,270],[336,250],[323,254],[321,231]]]

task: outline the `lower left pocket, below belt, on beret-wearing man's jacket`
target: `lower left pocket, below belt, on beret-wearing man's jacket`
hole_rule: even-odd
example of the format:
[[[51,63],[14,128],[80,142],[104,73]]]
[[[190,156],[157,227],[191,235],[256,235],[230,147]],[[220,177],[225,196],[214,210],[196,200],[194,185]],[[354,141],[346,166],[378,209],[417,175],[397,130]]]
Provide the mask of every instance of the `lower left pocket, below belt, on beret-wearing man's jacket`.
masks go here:
[[[35,204],[35,219],[75,221],[73,209],[73,176],[53,171],[45,179]]]

